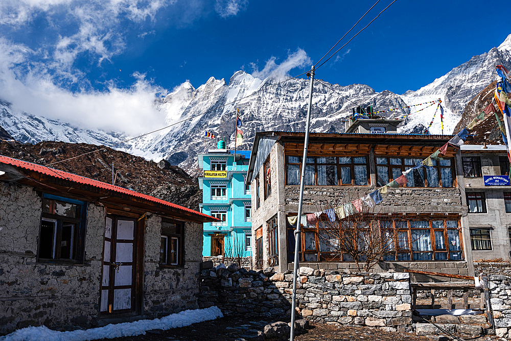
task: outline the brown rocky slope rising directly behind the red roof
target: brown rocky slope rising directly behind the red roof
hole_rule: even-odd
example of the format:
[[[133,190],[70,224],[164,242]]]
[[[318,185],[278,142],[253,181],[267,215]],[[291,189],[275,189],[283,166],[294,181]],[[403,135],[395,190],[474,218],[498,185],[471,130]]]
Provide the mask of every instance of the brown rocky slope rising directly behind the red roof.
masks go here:
[[[80,158],[49,165],[78,155]],[[117,179],[115,184],[156,198],[198,210],[202,191],[197,180],[178,166],[168,162],[155,163],[142,157],[96,145],[42,141],[37,144],[0,141],[0,154],[77,174],[90,179],[112,183],[112,164]]]

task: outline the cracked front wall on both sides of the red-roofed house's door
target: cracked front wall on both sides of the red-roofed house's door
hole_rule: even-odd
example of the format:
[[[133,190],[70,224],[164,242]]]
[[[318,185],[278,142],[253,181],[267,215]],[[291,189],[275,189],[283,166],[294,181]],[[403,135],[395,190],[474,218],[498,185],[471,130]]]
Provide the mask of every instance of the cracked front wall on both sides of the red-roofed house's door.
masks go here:
[[[42,202],[32,187],[0,182],[0,333],[28,326],[74,329],[100,324],[105,208],[89,204],[83,264],[37,262]],[[148,214],[142,315],[197,308],[202,224],[185,223],[185,265],[158,265],[161,217]]]

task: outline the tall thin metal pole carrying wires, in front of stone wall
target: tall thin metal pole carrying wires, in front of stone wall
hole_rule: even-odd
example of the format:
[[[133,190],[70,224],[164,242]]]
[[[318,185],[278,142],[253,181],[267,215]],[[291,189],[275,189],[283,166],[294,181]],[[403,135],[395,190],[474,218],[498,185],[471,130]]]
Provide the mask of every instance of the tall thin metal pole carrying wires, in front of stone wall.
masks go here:
[[[290,341],[294,340],[294,321],[295,321],[295,307],[296,307],[296,279],[298,273],[298,246],[300,245],[300,223],[301,223],[301,205],[304,202],[304,184],[305,184],[305,166],[307,164],[307,147],[309,145],[309,128],[311,125],[311,108],[312,108],[312,89],[314,87],[314,65],[312,65],[311,72],[308,74],[311,77],[311,85],[309,92],[309,108],[307,109],[307,125],[305,128],[305,142],[304,142],[304,158],[301,161],[301,177],[300,177],[300,197],[298,199],[298,216],[296,217],[296,230],[294,231],[294,269],[293,269],[293,299],[291,303],[291,334]]]

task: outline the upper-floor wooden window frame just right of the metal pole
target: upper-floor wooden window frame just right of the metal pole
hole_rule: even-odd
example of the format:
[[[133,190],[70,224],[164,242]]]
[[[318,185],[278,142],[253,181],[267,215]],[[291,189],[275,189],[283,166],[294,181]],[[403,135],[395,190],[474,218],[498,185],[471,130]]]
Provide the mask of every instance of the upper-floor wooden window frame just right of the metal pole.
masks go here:
[[[296,163],[296,162],[289,162],[289,157],[297,157],[299,162]],[[335,157],[335,163],[320,163],[317,161],[317,158],[322,158],[322,157]],[[350,163],[339,163],[339,158],[340,157],[350,157],[351,158],[351,162]],[[360,157],[365,157],[365,163],[355,163],[354,162],[354,159],[353,158],[360,158]],[[302,167],[302,159],[303,157],[301,156],[298,156],[298,155],[285,155],[284,156],[285,158],[285,169],[286,169],[286,172],[285,172],[285,178],[286,178],[286,185],[289,185],[288,184],[288,166],[289,165],[297,165],[298,166],[298,179],[300,179],[301,177],[301,167]],[[312,162],[309,162],[309,160],[313,160]],[[369,155],[359,155],[359,154],[356,154],[356,155],[308,155],[307,156],[307,165],[313,165],[314,166],[314,184],[312,185],[307,185],[307,186],[369,186],[370,185],[370,171],[369,171]],[[333,185],[319,185],[318,184],[318,166],[327,166],[327,165],[331,165],[331,166],[336,166],[336,169],[337,169],[337,183],[336,184],[333,184]],[[367,181],[367,184],[365,185],[357,185],[355,184],[355,166],[362,166],[362,165],[365,165],[366,166],[366,181]],[[342,179],[341,179],[341,167],[350,167],[351,169],[351,182],[350,183],[342,183]],[[297,184],[299,185],[299,184]],[[289,185],[289,186],[296,186],[296,185]]]

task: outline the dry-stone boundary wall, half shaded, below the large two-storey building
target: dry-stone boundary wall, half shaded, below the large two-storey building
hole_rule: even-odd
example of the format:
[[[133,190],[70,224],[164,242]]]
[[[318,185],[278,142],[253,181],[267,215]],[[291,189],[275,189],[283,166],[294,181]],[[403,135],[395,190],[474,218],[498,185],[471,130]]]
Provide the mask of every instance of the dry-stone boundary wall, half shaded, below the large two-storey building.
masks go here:
[[[199,307],[213,305],[225,315],[281,318],[290,315],[291,271],[274,273],[227,269],[205,262],[200,277]],[[207,269],[206,269],[207,268]],[[355,324],[409,331],[412,323],[409,274],[352,274],[300,267],[297,308],[317,323]]]

